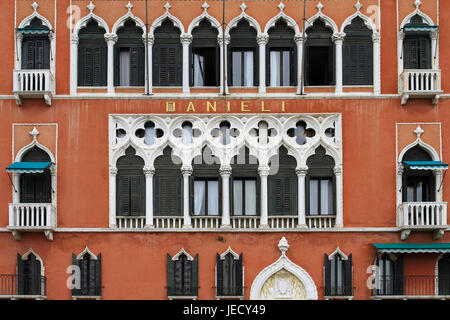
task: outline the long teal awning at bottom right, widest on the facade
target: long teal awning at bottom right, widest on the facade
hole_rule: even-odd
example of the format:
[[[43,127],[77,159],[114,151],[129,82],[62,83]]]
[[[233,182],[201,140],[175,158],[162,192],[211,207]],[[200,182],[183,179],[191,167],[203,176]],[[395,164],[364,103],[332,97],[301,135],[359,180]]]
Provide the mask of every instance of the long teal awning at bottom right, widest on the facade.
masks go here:
[[[442,253],[450,252],[450,243],[372,243],[379,252],[392,253]]]

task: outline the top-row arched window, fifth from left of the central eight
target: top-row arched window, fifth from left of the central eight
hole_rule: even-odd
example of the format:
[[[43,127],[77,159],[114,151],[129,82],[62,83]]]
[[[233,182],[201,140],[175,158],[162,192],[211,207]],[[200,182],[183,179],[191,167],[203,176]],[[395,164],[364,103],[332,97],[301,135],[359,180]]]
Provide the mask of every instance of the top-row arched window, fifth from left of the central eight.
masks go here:
[[[253,87],[258,83],[258,44],[256,30],[242,19],[230,31],[228,50],[229,85]]]

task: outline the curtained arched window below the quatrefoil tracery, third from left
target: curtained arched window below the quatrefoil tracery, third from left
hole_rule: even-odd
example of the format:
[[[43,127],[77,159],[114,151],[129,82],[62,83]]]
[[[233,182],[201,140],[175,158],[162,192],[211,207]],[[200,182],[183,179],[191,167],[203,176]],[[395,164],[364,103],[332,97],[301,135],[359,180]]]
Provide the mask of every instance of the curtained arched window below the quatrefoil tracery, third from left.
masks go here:
[[[194,215],[218,216],[222,209],[222,182],[219,179],[220,162],[211,149],[203,148],[201,156],[193,161],[191,176],[191,212]]]

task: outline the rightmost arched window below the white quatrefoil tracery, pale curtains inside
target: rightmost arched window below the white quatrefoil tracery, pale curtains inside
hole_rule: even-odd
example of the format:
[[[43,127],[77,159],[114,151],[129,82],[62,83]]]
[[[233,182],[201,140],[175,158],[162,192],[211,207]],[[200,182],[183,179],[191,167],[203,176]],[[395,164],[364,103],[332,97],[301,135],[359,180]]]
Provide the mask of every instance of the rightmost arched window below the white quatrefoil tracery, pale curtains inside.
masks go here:
[[[325,154],[319,146],[310,156],[306,165],[306,215],[336,214],[336,179],[334,176],[334,159]]]

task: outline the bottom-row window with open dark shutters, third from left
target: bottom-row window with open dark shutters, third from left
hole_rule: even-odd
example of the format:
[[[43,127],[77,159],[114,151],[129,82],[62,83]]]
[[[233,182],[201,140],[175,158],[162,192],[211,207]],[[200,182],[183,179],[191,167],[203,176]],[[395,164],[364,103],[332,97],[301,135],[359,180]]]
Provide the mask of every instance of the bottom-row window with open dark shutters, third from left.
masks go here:
[[[167,254],[167,296],[198,295],[198,254],[193,260],[181,253],[176,260]]]

